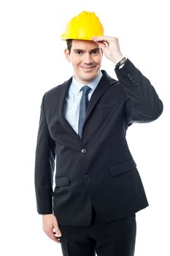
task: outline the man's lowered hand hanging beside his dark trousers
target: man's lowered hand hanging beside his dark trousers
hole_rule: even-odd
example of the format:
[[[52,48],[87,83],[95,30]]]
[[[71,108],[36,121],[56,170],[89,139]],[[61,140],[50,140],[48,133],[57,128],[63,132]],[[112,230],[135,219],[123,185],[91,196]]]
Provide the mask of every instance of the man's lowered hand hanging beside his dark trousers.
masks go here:
[[[61,243],[61,230],[58,227],[58,221],[54,214],[42,214],[42,225],[46,235],[58,244]],[[55,236],[56,235],[56,236]]]

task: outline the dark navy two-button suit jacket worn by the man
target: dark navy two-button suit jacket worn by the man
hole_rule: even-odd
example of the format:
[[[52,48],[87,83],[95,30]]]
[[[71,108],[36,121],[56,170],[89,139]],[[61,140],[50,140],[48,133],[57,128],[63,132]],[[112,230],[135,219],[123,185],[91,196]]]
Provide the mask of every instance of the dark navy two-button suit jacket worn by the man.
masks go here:
[[[122,69],[115,69],[118,80],[101,72],[82,139],[63,116],[72,78],[42,99],[35,162],[37,211],[54,213],[61,225],[88,226],[92,205],[104,223],[148,206],[125,133],[134,122],[158,118],[163,103],[129,59]]]

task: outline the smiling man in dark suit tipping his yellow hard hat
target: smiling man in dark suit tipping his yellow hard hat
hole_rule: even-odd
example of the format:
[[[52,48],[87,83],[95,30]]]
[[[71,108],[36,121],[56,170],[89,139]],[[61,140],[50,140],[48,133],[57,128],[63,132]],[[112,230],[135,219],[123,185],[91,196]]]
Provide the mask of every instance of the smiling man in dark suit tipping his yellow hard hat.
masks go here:
[[[163,103],[93,12],[70,20],[62,39],[74,75],[42,99],[35,188],[43,230],[63,256],[132,256],[135,213],[148,202],[125,133],[158,118]],[[118,80],[101,70],[103,54]]]

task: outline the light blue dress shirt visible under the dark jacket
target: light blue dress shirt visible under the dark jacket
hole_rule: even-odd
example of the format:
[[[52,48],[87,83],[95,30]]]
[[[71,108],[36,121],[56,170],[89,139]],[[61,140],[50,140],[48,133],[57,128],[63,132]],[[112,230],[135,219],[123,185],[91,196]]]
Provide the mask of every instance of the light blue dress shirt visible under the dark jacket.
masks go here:
[[[102,77],[101,71],[99,72],[97,78],[93,80],[91,83],[82,84],[75,80],[74,76],[72,78],[72,84],[69,87],[68,95],[66,97],[66,102],[64,105],[64,113],[63,116],[72,126],[75,132],[78,134],[78,121],[79,121],[79,110],[80,110],[80,99],[82,97],[82,86],[89,86],[90,92],[88,94],[88,100],[90,101],[90,97],[93,94],[93,91],[98,86],[99,81]]]

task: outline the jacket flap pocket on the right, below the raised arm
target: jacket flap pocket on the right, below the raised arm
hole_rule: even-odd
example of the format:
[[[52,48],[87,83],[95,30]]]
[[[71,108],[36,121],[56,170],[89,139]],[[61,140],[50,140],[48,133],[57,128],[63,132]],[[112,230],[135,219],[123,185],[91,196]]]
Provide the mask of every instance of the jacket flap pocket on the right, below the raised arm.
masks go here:
[[[126,162],[109,167],[109,170],[112,176],[119,176],[123,173],[127,173],[130,170],[134,170],[134,169],[136,169],[136,162],[134,162],[134,159],[130,159]]]

